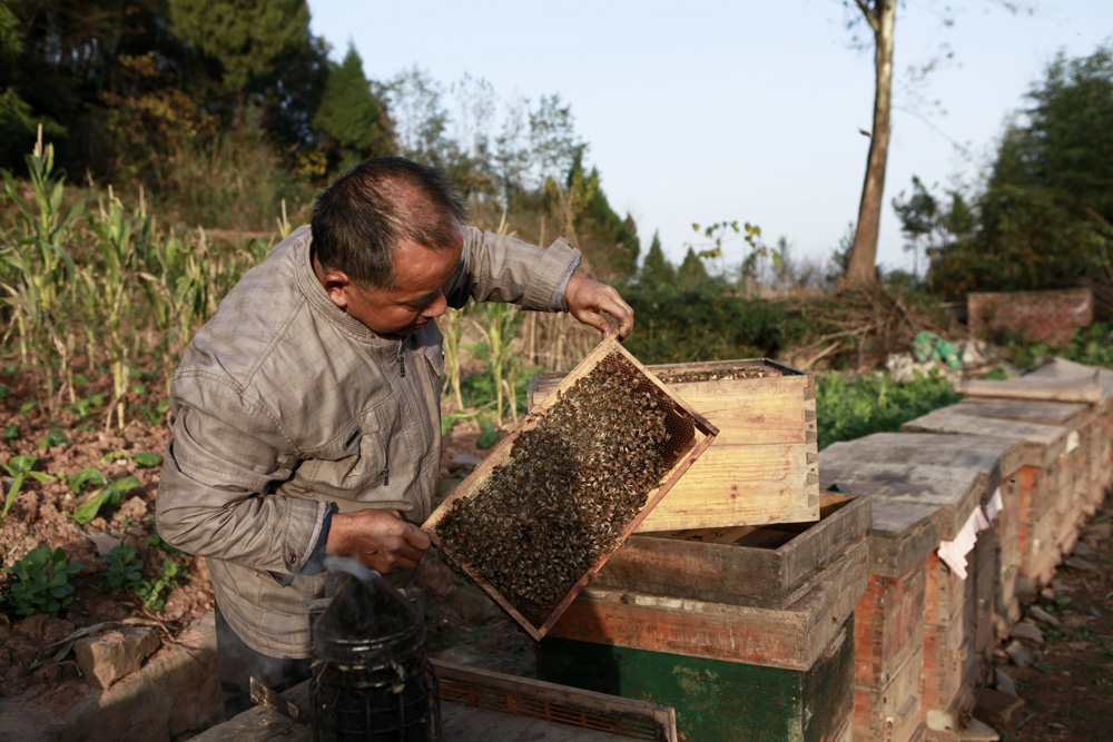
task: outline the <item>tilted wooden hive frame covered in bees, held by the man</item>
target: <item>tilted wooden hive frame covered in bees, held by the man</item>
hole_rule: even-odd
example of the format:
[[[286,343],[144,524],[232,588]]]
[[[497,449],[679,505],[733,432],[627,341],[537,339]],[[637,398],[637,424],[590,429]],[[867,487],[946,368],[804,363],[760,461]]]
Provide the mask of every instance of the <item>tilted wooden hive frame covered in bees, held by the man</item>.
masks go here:
[[[716,434],[611,336],[422,527],[540,639]]]

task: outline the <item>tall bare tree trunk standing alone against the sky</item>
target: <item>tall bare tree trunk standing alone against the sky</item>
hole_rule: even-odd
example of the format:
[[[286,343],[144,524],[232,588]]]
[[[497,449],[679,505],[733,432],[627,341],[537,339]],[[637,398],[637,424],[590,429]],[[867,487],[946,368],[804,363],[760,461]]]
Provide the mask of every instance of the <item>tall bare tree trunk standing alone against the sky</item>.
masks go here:
[[[889,113],[893,103],[893,30],[896,0],[876,0],[874,7],[856,0],[874,31],[874,130],[869,138],[866,181],[858,206],[858,227],[846,270],[847,286],[869,286],[877,279],[877,236],[889,157]]]

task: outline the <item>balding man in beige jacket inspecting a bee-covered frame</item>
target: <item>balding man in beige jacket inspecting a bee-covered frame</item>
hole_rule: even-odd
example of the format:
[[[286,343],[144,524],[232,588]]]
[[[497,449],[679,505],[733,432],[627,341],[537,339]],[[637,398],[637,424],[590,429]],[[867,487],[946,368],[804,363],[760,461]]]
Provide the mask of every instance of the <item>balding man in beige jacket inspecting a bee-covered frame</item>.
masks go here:
[[[564,240],[541,249],[465,216],[437,170],[368,160],[317,197],[312,226],[244,275],[183,356],[157,522],[207,558],[228,716],[249,708],[252,675],[279,690],[308,677],[309,614],[332,594],[325,554],[403,584],[429,547],[415,524],[440,468],[436,317],[472,298],[633,327]]]

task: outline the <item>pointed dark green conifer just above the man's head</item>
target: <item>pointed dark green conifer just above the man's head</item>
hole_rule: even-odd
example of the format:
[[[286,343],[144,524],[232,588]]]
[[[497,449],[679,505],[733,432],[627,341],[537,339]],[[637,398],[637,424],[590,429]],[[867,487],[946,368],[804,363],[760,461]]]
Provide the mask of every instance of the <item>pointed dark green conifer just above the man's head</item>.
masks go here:
[[[372,92],[355,46],[348,46],[344,61],[332,67],[313,125],[348,152],[346,159],[363,160],[393,150],[386,107]]]

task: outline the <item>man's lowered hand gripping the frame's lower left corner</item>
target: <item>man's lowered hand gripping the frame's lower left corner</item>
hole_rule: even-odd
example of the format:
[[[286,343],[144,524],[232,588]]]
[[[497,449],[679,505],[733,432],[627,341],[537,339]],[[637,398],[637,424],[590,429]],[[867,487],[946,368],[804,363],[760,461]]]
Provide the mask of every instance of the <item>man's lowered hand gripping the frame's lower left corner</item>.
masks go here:
[[[352,556],[381,574],[413,570],[429,548],[429,536],[397,511],[334,513],[326,554]]]

